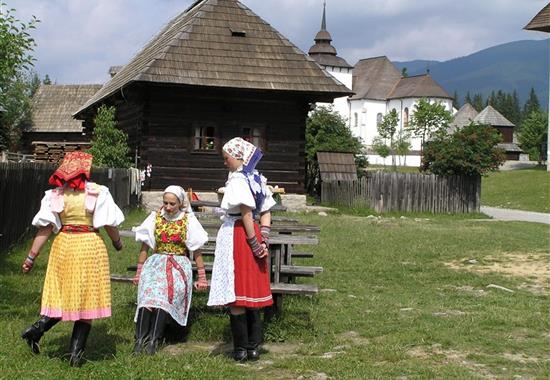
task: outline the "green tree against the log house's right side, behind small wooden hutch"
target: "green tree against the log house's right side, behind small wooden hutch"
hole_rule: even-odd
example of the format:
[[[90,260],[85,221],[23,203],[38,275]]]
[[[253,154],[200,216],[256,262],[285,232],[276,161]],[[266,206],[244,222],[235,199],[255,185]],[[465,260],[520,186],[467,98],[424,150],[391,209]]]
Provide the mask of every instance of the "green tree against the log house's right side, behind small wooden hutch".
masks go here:
[[[350,152],[355,155],[359,173],[366,166],[361,156],[363,145],[351,134],[346,121],[332,107],[317,107],[306,121],[306,188],[310,194],[319,194],[319,165],[317,152]]]

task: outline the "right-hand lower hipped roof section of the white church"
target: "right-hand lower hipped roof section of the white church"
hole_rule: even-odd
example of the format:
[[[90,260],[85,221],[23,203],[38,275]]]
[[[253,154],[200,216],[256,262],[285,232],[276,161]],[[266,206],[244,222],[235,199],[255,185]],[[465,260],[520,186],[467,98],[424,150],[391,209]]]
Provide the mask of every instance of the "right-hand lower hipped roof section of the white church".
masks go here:
[[[429,74],[401,78],[388,99],[402,98],[443,98],[452,99]]]

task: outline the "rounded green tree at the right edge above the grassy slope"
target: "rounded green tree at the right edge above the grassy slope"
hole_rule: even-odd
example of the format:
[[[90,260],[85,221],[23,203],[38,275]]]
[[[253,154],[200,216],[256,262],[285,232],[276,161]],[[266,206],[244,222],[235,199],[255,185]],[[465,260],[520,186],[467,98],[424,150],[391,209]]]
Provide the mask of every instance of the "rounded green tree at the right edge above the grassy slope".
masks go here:
[[[548,141],[548,114],[532,111],[523,120],[518,139],[521,149],[529,153],[529,158],[541,164],[544,161],[545,144]]]

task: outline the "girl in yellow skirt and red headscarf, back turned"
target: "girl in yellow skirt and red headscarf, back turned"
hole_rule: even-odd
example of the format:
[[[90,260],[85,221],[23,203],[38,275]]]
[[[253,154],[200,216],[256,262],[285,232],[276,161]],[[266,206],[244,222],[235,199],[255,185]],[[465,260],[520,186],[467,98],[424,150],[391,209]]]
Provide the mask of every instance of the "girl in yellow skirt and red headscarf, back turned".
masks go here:
[[[98,229],[105,227],[115,249],[122,249],[117,226],[124,215],[107,187],[88,182],[91,167],[88,153],[65,155],[49,179],[56,188],[46,191],[32,221],[38,233],[23,263],[23,273],[28,273],[50,234],[57,234],[44,280],[41,318],[21,337],[37,354],[46,331],[59,321],[74,321],[71,366],[82,364],[91,321],[111,316],[109,261]]]

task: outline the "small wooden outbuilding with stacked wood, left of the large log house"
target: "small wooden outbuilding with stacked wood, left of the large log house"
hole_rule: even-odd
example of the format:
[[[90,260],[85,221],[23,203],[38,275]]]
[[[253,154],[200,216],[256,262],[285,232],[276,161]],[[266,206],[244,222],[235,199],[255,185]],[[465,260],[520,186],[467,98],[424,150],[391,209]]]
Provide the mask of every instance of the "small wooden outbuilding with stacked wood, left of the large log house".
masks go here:
[[[42,85],[32,99],[32,124],[23,134],[24,150],[38,161],[57,162],[65,152],[86,149],[90,136],[72,114],[101,85]]]

